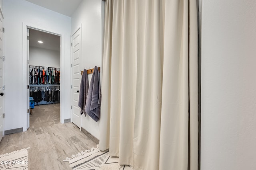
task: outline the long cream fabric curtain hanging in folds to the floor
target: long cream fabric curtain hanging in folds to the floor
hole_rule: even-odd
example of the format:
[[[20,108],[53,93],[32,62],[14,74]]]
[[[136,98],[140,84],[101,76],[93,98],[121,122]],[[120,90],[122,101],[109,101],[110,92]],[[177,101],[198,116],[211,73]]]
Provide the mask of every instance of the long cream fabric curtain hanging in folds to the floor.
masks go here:
[[[100,149],[135,170],[198,169],[196,0],[106,0]]]

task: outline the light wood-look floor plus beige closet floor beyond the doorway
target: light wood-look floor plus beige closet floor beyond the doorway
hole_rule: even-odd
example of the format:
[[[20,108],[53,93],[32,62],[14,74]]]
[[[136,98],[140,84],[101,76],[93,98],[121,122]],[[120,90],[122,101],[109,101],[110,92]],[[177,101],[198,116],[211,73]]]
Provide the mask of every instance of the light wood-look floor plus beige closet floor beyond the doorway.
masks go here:
[[[61,124],[60,104],[50,104],[32,109],[28,131],[4,136],[0,154],[28,147],[29,170],[71,170],[63,160],[96,143],[73,123]]]

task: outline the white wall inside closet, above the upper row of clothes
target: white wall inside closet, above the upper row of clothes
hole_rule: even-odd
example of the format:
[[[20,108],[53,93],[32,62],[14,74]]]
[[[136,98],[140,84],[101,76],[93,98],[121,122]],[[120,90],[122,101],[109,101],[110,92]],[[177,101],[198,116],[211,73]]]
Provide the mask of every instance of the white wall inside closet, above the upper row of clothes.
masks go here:
[[[30,47],[29,65],[60,68],[60,51]]]

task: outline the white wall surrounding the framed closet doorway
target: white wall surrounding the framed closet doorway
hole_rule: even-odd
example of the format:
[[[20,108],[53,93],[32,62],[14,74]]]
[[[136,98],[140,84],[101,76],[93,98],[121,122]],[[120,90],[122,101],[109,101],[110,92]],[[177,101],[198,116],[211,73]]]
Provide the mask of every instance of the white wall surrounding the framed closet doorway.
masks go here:
[[[23,23],[61,34],[64,58],[61,59],[65,78],[61,79],[65,95],[61,99],[64,119],[70,118],[70,32],[71,18],[42,8],[25,0],[4,0],[5,40],[5,130],[24,127],[26,106],[24,106]],[[26,42],[26,41],[25,41]],[[62,52],[61,52],[62,53]],[[26,58],[26,56],[25,56]],[[26,101],[25,101],[26,102]]]

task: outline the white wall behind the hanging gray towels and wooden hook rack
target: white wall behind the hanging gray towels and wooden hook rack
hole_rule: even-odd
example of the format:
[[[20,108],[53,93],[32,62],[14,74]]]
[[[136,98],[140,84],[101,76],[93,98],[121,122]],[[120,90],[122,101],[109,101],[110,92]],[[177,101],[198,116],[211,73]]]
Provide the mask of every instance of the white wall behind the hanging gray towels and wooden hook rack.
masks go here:
[[[71,17],[74,33],[82,24],[82,69],[102,66],[102,32],[104,27],[104,1],[83,0]],[[101,69],[102,70],[102,69]],[[89,83],[92,74],[88,75]],[[100,73],[100,76],[102,74]],[[101,78],[101,77],[100,77]],[[101,78],[102,80],[102,78]],[[100,121],[82,115],[82,127],[99,139]]]

